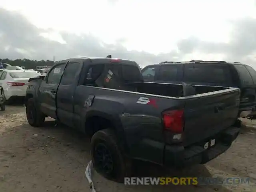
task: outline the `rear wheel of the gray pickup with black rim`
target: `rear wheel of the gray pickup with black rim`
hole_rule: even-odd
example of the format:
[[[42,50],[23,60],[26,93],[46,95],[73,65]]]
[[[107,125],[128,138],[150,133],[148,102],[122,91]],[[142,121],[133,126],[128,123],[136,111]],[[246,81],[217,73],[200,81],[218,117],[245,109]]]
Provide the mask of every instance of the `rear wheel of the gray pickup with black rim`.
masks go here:
[[[106,152],[105,158],[102,158],[100,157],[100,151],[104,150]],[[96,132],[91,139],[90,151],[95,170],[105,178],[116,182],[124,182],[124,177],[130,175],[132,170],[130,160],[124,157],[113,130],[104,129]],[[105,162],[105,165],[106,162],[110,162],[109,167],[104,167],[103,162]]]

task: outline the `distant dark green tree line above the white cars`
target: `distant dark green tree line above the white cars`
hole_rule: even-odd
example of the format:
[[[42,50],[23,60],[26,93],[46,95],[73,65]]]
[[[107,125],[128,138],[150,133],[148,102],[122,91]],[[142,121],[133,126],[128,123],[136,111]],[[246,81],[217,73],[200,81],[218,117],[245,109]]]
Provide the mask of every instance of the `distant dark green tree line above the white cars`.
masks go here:
[[[54,61],[51,60],[29,60],[29,59],[2,59],[2,63],[8,63],[12,66],[24,66],[26,69],[35,69],[36,66],[53,66]]]

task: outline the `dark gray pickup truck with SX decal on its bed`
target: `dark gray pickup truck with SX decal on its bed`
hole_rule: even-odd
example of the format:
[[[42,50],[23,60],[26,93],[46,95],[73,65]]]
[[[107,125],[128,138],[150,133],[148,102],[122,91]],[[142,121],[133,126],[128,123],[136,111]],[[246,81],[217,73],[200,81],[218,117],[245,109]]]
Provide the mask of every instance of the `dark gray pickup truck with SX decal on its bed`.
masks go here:
[[[185,84],[143,82],[130,60],[72,58],[30,78],[26,116],[31,126],[43,126],[50,116],[91,136],[96,171],[123,182],[133,160],[175,168],[204,164],[236,139],[240,90],[195,86],[191,95]]]

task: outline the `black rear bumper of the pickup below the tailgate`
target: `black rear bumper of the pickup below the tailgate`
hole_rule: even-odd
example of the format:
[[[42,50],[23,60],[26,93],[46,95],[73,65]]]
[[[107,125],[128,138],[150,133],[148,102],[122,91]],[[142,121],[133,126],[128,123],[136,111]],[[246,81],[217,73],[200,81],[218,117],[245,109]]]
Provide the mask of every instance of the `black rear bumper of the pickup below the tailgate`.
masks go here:
[[[194,164],[205,164],[225,152],[237,138],[240,129],[230,127],[217,134],[215,146],[204,149],[204,143],[183,146],[166,146],[164,151],[164,166],[184,168]]]

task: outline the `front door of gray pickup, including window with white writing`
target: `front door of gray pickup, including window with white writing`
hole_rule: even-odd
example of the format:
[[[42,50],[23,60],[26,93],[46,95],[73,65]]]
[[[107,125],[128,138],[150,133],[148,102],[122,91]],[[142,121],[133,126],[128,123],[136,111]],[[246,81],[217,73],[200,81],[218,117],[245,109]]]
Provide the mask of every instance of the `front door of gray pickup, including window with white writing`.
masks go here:
[[[54,66],[42,81],[38,98],[41,111],[56,119],[56,92],[66,63]]]

